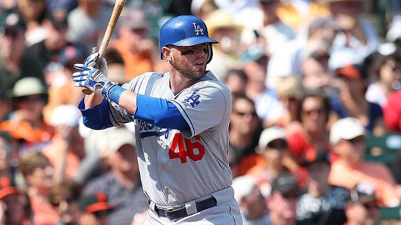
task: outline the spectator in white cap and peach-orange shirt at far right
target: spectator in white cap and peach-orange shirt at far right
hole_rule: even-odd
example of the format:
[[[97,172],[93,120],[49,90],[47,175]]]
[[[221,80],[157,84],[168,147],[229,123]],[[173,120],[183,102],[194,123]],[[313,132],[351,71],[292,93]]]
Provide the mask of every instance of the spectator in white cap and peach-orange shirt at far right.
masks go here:
[[[330,130],[330,142],[338,159],[329,174],[331,185],[349,190],[359,182],[373,185],[379,206],[398,206],[400,195],[390,169],[386,165],[364,160],[365,128],[358,119],[346,117],[336,121]]]

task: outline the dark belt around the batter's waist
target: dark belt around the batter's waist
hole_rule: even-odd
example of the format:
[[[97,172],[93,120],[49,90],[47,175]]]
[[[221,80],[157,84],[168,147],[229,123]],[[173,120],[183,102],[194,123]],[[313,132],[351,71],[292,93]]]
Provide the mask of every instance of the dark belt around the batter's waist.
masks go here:
[[[203,201],[198,201],[196,204],[196,210],[201,212],[203,210],[207,210],[208,208],[212,208],[217,206],[217,200],[214,197],[210,197],[209,199],[205,199]],[[172,221],[177,221],[178,219],[182,219],[184,217],[189,216],[190,214],[187,213],[187,208],[185,206],[172,208],[172,209],[161,209],[155,206],[155,212],[160,217],[167,217]]]

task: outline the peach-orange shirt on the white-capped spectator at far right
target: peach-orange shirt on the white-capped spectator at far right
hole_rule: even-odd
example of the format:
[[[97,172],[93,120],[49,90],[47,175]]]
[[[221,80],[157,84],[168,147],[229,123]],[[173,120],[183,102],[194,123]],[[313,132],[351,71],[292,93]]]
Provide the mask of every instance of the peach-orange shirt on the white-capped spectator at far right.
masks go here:
[[[368,182],[375,187],[376,197],[381,206],[395,206],[400,199],[395,194],[395,180],[386,165],[363,162],[360,167],[349,167],[344,160],[338,159],[331,165],[329,183],[348,189],[361,182]]]

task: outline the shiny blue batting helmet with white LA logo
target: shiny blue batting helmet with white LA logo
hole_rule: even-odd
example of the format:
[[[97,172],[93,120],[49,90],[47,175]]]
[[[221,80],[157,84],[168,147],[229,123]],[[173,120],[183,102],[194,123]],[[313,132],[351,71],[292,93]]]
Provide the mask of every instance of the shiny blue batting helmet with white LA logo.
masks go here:
[[[209,43],[209,57],[207,63],[212,60],[212,44],[219,43],[217,40],[209,38],[205,22],[192,15],[180,15],[168,19],[163,24],[159,32],[159,51],[162,55],[162,48],[168,44],[175,46],[192,46],[196,44]]]

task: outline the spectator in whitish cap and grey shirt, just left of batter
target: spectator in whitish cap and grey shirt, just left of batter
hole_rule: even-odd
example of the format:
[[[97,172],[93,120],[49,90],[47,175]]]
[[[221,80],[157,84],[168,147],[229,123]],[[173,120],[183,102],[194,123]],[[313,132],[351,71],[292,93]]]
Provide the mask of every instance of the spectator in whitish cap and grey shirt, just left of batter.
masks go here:
[[[139,177],[134,135],[119,127],[109,128],[97,138],[97,142],[102,142],[102,154],[111,170],[86,183],[83,194],[104,192],[116,206],[109,215],[109,224],[130,224],[136,214],[149,208]]]

